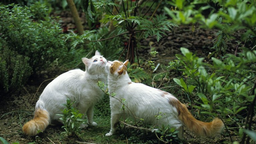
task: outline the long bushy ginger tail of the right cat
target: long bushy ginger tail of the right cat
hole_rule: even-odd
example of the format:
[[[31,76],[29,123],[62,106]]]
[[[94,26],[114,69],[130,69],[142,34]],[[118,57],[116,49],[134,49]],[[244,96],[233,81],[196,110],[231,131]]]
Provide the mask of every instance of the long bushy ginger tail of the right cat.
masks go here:
[[[180,103],[177,109],[179,112],[179,119],[182,123],[197,135],[211,137],[220,133],[224,128],[224,123],[219,118],[215,118],[212,122],[202,122],[195,119],[187,107],[182,103]]]

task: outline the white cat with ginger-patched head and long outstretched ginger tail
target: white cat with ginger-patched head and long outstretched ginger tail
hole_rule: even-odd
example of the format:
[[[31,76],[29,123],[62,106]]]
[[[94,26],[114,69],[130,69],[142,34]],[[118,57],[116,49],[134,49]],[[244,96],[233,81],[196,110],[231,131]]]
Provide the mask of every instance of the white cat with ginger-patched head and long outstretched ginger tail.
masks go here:
[[[114,97],[110,96],[111,130],[106,136],[111,136],[115,132],[119,118],[123,115],[123,111],[120,111],[122,98],[125,99],[125,104],[130,109],[129,111],[125,108],[125,114],[132,118],[133,115],[142,118],[144,123],[153,126],[170,124],[171,127],[179,130],[178,137],[181,139],[183,138],[183,125],[195,134],[207,137],[223,129],[224,124],[218,118],[212,122],[196,120],[187,107],[172,94],[141,83],[131,82],[127,74],[127,64],[128,60],[124,63],[108,61],[106,64],[108,90],[110,94],[115,93]],[[166,116],[157,120],[155,116],[159,112]]]

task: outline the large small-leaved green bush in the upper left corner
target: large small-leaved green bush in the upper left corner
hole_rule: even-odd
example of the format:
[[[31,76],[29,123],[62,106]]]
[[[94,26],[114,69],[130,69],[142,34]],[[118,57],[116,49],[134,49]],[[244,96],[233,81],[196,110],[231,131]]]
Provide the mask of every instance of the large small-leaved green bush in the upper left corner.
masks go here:
[[[0,43],[6,42],[11,50],[29,57],[34,73],[66,53],[60,24],[49,17],[49,10],[44,5],[37,3],[31,8],[13,4],[2,6],[0,19]]]

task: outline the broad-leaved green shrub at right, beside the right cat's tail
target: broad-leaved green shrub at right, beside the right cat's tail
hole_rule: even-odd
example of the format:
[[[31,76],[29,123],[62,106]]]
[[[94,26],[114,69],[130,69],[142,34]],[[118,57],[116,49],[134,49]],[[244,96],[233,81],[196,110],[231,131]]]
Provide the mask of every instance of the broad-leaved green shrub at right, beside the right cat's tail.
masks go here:
[[[173,80],[182,87],[185,95],[195,99],[198,105],[194,107],[200,110],[201,120],[206,114],[240,121],[250,116],[245,112],[248,103],[253,104],[255,100],[256,51],[244,50],[239,56],[226,54],[222,60],[212,57],[213,64],[204,63],[204,58],[186,48],[181,48],[181,52],[183,55],[177,54],[176,57],[183,78]]]

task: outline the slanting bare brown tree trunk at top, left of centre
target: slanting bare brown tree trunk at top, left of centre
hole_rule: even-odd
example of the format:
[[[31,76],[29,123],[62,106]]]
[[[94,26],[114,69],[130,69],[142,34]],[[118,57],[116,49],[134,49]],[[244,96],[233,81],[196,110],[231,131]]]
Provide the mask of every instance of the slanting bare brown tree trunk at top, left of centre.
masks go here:
[[[82,35],[83,32],[84,32],[84,29],[83,29],[83,26],[81,24],[81,20],[80,20],[80,17],[78,15],[76,6],[75,6],[73,0],[67,0],[67,3],[68,3],[68,6],[70,8],[70,11],[72,13],[72,17],[75,21],[77,32],[78,32],[79,35]]]

